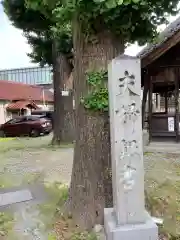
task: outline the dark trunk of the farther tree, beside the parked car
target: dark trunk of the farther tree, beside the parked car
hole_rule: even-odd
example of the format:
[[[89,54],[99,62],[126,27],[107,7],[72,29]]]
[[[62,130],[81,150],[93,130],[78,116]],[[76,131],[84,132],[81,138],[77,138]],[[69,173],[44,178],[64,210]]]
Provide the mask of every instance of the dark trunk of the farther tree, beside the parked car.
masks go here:
[[[64,97],[62,90],[70,77],[72,67],[67,57],[57,52],[56,42],[53,43],[53,84],[54,84],[54,115],[53,115],[53,145],[59,145],[64,129]]]

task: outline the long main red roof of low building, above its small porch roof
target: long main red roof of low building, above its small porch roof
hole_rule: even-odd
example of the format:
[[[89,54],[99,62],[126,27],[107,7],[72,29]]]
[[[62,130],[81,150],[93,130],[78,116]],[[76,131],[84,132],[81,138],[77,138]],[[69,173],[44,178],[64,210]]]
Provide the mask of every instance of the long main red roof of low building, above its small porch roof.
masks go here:
[[[40,86],[0,80],[0,100],[31,100],[53,102],[53,94]]]

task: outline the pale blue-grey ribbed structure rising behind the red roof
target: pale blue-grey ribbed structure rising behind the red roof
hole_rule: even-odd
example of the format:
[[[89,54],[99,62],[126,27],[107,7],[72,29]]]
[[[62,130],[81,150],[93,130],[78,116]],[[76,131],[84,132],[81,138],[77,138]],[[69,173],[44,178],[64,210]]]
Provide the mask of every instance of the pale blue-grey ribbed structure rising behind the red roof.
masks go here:
[[[0,70],[0,81],[7,80],[32,85],[52,84],[51,67],[30,67]]]

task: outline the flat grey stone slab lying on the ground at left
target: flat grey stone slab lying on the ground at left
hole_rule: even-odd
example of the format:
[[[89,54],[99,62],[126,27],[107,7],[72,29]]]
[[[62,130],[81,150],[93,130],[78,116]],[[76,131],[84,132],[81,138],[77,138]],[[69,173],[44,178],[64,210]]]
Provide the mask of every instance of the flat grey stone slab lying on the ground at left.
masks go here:
[[[7,192],[0,194],[0,207],[30,201],[32,200],[32,194],[28,189],[15,191],[15,192]]]

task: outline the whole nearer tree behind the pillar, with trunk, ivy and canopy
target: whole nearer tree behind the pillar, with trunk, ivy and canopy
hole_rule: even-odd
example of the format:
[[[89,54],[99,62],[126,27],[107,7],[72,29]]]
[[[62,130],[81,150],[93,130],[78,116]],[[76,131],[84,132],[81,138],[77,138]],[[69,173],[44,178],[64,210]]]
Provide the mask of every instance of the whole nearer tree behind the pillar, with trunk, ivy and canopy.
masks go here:
[[[112,192],[109,179],[109,61],[126,43],[153,39],[178,0],[27,0],[28,7],[53,5],[59,25],[70,22],[75,54],[76,144],[70,187],[70,210],[76,223],[90,229],[103,223],[103,209]],[[110,181],[109,181],[110,182]]]

